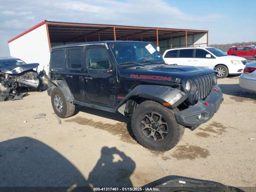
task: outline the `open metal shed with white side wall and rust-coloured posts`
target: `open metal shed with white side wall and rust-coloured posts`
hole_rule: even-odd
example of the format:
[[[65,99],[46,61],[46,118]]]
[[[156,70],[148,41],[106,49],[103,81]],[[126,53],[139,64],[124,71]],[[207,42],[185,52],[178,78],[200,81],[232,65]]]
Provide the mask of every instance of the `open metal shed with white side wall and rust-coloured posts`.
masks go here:
[[[208,46],[209,31],[44,20],[8,43],[11,56],[27,63],[38,62],[39,70],[47,71],[53,46],[99,40],[150,41],[163,54],[170,48]]]

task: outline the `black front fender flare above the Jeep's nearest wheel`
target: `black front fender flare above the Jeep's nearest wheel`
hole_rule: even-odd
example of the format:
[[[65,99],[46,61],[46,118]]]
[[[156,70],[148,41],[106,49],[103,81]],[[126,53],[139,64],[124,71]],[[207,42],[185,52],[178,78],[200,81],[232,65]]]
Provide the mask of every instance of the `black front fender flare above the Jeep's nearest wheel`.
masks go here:
[[[126,104],[126,102],[132,98],[145,98],[148,100],[153,100],[159,103],[168,103],[170,102],[175,96],[181,94],[181,97],[176,100],[171,106],[168,106],[170,109],[174,109],[179,106],[186,98],[188,98],[187,94],[182,92],[182,90],[178,88],[172,88],[170,86],[160,86],[160,85],[138,85],[133,90],[131,90],[124,99],[118,104],[118,108],[122,105]]]

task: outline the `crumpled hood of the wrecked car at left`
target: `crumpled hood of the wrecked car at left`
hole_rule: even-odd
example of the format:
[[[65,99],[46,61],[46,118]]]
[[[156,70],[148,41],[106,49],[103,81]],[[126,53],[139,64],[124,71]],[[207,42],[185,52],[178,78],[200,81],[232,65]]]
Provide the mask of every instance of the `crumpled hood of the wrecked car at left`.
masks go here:
[[[28,71],[28,70],[37,68],[38,66],[39,66],[39,63],[14,65],[14,66],[10,66],[10,67],[1,68],[0,72],[8,73],[8,74],[19,74],[19,73],[22,73],[24,71]]]

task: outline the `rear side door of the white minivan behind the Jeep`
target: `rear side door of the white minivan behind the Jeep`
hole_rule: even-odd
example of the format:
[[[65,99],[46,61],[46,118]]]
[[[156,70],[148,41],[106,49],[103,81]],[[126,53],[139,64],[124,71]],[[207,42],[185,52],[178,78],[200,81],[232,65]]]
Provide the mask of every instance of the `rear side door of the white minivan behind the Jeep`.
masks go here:
[[[193,66],[193,53],[194,49],[180,49],[178,58],[176,58],[176,64]]]

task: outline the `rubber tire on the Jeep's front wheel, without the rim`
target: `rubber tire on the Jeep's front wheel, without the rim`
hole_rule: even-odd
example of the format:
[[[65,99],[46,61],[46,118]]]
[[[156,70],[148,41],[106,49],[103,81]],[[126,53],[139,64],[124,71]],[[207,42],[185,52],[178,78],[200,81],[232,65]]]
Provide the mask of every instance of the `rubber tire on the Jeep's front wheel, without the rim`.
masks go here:
[[[158,102],[146,100],[139,104],[132,114],[132,131],[139,144],[154,151],[168,151],[174,148],[184,134],[184,126],[177,123],[174,113],[178,111],[170,110]],[[164,118],[167,123],[167,134],[163,140],[152,141],[143,132],[141,121],[145,114],[156,112]]]

